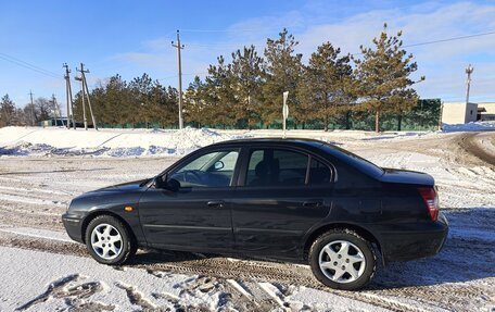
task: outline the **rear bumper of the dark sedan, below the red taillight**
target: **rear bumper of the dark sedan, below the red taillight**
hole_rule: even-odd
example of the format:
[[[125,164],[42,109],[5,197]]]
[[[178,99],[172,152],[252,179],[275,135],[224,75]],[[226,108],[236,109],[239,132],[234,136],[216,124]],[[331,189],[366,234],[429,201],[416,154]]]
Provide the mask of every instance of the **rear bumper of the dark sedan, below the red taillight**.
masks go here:
[[[442,213],[436,222],[418,229],[381,233],[384,261],[407,261],[434,255],[442,250],[447,234],[448,222]]]

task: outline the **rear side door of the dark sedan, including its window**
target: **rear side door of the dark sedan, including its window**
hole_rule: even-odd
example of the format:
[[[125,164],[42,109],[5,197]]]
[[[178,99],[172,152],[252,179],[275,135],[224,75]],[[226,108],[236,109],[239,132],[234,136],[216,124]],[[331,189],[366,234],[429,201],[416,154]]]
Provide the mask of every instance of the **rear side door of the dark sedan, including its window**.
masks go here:
[[[329,213],[332,171],[304,151],[252,148],[245,154],[232,199],[236,247],[299,257],[304,234]]]

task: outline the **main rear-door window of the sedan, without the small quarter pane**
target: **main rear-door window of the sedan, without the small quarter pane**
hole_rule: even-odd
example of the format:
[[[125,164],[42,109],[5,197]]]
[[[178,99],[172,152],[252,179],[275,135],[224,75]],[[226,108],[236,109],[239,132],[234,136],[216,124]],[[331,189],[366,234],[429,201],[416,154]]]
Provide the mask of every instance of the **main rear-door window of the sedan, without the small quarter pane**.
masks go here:
[[[308,157],[279,149],[253,150],[246,172],[246,186],[305,185]]]

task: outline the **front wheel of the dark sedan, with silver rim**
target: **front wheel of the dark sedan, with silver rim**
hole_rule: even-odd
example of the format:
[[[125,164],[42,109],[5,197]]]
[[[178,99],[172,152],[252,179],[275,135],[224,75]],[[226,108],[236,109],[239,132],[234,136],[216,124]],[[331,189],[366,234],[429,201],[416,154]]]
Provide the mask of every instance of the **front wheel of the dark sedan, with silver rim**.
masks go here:
[[[85,241],[91,257],[103,264],[123,264],[137,251],[136,239],[127,226],[111,215],[91,220],[86,227]]]

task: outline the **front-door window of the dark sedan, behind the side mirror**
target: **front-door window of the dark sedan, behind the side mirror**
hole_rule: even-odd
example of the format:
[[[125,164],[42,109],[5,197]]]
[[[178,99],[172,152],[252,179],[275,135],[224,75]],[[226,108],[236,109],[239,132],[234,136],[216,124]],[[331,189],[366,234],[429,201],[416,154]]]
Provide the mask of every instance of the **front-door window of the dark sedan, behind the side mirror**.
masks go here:
[[[214,151],[199,155],[168,174],[186,187],[228,187],[232,180],[239,150]]]

